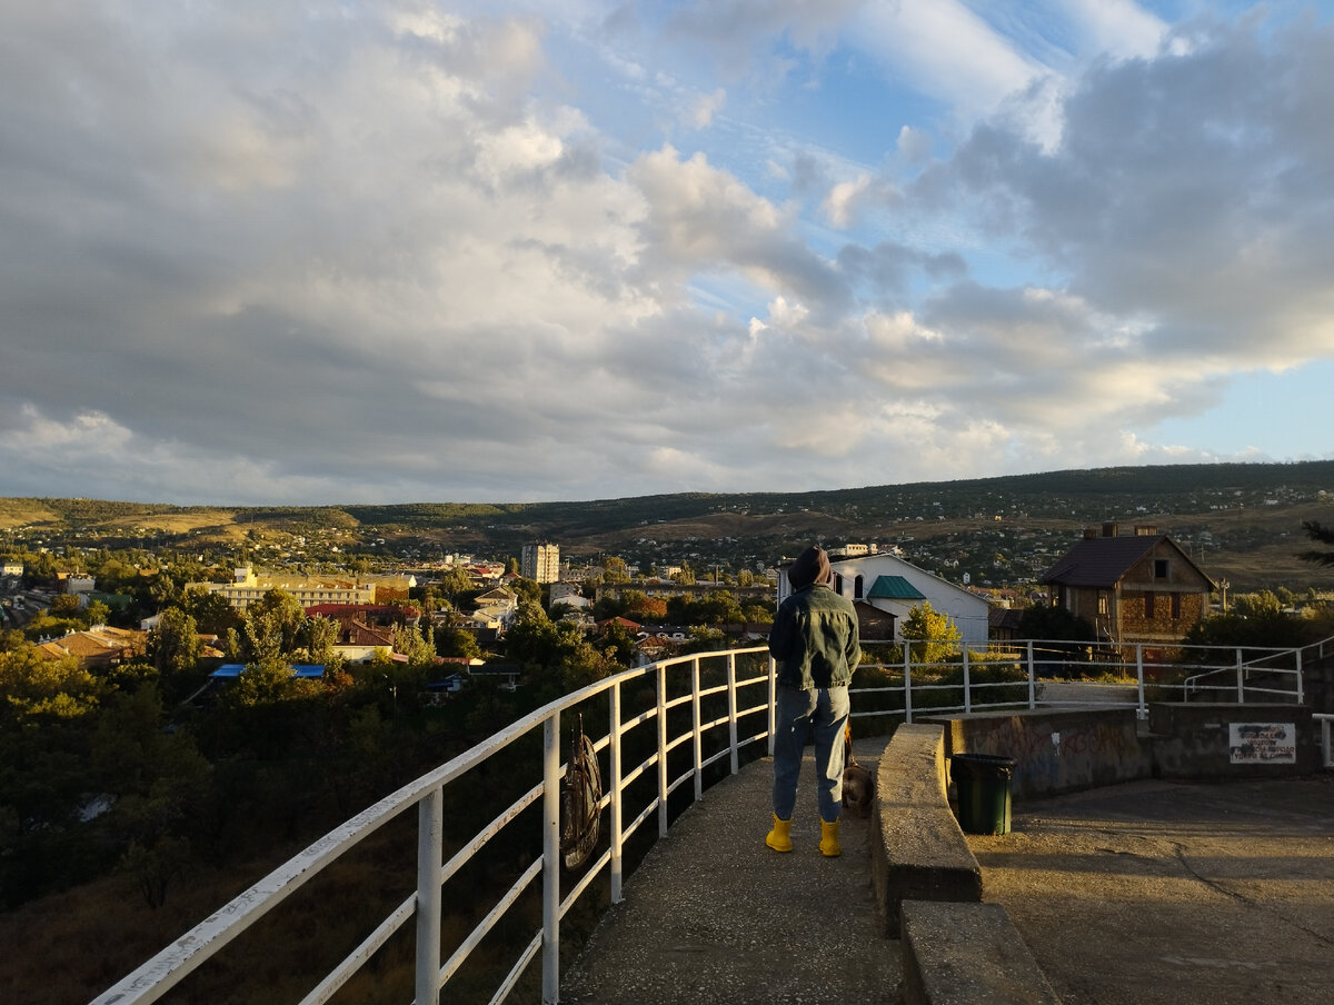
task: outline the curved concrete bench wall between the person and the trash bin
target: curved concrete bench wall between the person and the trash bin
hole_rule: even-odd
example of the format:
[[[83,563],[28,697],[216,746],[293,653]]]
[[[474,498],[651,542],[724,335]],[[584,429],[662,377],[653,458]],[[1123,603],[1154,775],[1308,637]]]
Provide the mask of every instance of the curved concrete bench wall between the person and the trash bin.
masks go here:
[[[946,798],[943,726],[899,726],[875,789],[871,882],[884,933],[898,937],[906,900],[980,901],[982,872]]]

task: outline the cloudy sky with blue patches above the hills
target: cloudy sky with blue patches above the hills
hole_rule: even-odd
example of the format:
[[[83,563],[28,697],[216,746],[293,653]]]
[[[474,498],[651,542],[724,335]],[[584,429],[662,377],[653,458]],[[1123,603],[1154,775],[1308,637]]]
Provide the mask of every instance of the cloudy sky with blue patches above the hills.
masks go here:
[[[1334,458],[1334,3],[0,7],[0,495]]]

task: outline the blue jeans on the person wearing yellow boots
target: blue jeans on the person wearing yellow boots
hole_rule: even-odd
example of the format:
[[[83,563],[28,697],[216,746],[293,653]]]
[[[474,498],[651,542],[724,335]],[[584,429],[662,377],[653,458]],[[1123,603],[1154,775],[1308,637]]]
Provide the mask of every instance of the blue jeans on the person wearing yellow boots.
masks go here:
[[[796,778],[802,751],[815,734],[815,786],[820,819],[838,819],[843,801],[843,727],[847,725],[847,687],[803,691],[778,686],[774,718],[774,815],[791,819],[796,805]]]

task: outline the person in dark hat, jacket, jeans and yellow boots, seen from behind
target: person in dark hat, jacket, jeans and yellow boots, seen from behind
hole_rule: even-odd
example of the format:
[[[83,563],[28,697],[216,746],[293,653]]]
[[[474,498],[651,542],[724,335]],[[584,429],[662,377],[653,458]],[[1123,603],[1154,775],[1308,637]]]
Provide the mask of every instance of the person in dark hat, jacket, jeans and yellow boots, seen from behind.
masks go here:
[[[843,797],[843,727],[847,686],[862,659],[856,610],[830,586],[824,549],[806,549],[787,570],[792,593],[779,605],[768,651],[778,662],[774,729],[774,829],[764,844],[792,850],[792,807],[802,750],[815,734],[815,785],[820,811],[820,854],[842,853],[838,817]]]

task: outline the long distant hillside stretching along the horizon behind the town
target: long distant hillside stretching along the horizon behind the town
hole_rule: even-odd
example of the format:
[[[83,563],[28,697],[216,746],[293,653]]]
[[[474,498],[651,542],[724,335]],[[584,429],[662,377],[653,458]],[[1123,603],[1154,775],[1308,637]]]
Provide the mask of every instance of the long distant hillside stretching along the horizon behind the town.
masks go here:
[[[1334,522],[1334,460],[1174,464],[879,484],[819,492],[652,495],[548,503],[175,507],[95,499],[0,499],[11,545],[256,547],[300,538],[384,559],[518,554],[527,541],[566,557],[764,566],[810,541],[900,545],[919,565],[994,585],[1031,579],[1105,521],[1171,534],[1234,590],[1329,581],[1299,562],[1302,521]]]

